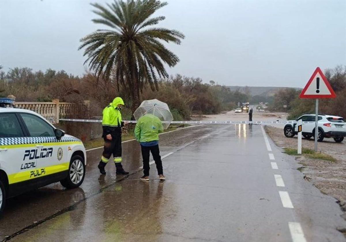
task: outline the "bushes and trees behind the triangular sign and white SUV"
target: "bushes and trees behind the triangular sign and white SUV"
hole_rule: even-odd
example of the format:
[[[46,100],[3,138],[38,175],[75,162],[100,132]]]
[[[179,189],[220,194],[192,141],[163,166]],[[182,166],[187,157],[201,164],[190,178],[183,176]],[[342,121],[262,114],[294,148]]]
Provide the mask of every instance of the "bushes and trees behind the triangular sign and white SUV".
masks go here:
[[[337,115],[346,118],[346,66],[326,69],[324,74],[336,92],[335,99],[320,99],[319,113]],[[300,89],[282,89],[274,95],[268,110],[288,112],[288,119],[296,119],[304,113],[315,113],[314,99],[300,99]],[[284,108],[287,105],[287,108]]]

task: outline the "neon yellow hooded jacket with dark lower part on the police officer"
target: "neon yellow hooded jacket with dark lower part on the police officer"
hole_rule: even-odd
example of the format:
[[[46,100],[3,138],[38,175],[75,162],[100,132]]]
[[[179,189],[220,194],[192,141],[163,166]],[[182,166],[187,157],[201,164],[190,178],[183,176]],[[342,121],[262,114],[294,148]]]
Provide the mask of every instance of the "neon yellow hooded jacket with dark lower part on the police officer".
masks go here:
[[[124,125],[121,119],[121,113],[118,105],[124,105],[121,97],[116,97],[102,112],[102,128],[103,136],[119,132],[119,129]],[[120,129],[121,131],[121,129]]]

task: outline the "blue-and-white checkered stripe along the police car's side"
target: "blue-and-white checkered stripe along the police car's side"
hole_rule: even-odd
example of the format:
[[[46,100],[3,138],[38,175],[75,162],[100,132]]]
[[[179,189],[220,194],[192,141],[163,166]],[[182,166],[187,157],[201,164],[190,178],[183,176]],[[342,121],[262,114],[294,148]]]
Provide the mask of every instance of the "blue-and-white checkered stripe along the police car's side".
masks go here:
[[[25,145],[34,143],[60,143],[60,142],[81,142],[75,137],[62,137],[57,140],[55,137],[20,137],[20,138],[0,138],[0,146],[3,145]]]

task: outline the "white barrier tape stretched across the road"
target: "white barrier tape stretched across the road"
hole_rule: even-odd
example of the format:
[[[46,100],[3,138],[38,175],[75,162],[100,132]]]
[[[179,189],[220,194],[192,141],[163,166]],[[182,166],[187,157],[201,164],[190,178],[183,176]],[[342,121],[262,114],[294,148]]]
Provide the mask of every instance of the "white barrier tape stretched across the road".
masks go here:
[[[60,121],[72,121],[72,122],[87,122],[87,123],[102,123],[99,119],[59,119]],[[130,120],[125,121],[128,123],[137,123],[137,121]],[[163,121],[163,123],[169,123]],[[298,121],[172,121],[171,124],[295,124]],[[302,123],[315,123],[313,121],[304,121]]]

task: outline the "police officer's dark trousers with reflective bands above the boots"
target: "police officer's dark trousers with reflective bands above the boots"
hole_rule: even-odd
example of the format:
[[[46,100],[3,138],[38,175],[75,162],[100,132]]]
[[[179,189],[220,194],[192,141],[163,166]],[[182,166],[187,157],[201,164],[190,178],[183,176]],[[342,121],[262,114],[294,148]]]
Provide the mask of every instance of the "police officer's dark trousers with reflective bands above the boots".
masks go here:
[[[121,162],[121,134],[112,135],[112,140],[104,137],[104,147],[101,158],[103,162],[107,163],[110,156],[113,154],[113,160],[115,163]],[[107,161],[106,161],[107,160]]]

